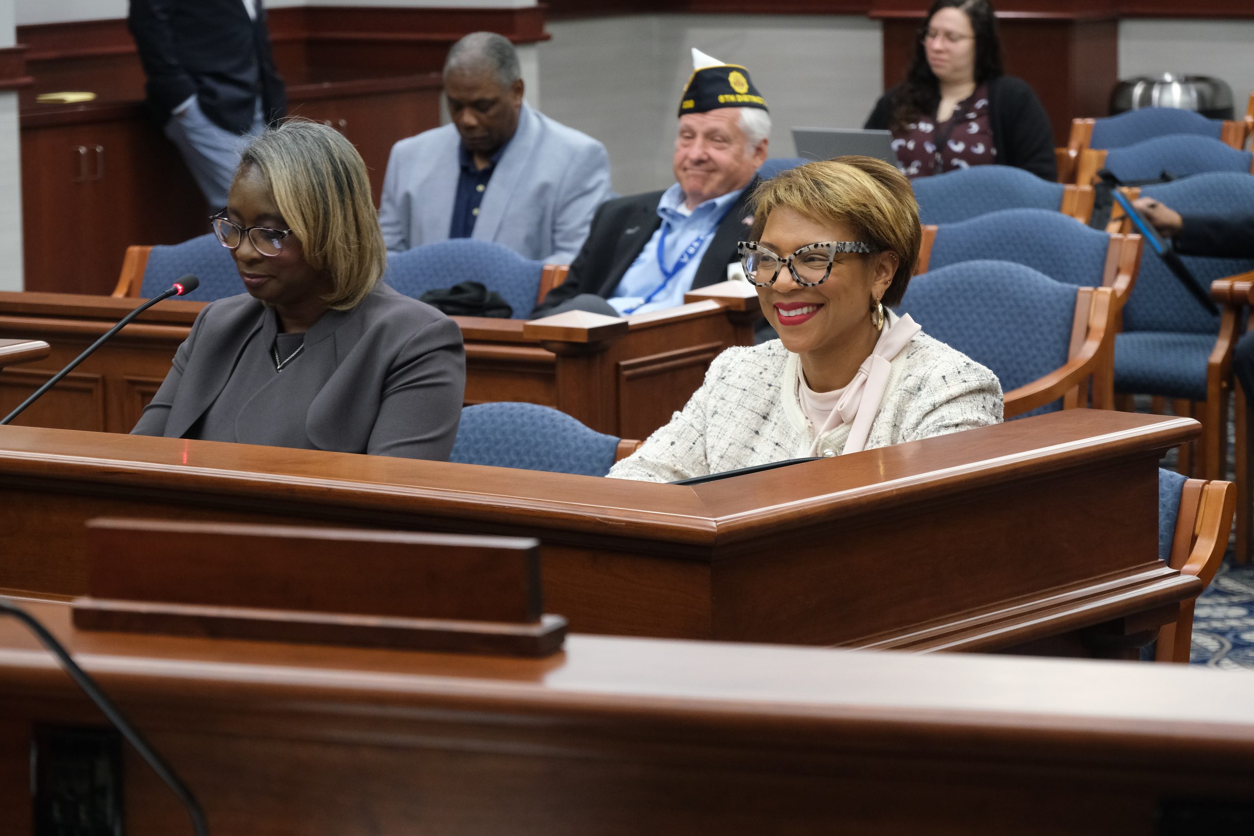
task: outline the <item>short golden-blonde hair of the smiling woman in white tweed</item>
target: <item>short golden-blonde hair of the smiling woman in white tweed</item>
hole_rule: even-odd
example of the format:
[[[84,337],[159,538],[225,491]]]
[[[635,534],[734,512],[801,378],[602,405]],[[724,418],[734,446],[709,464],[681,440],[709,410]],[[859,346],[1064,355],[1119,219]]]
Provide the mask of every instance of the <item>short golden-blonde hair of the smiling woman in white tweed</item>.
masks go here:
[[[895,165],[873,157],[806,163],[765,180],[752,201],[752,241],[761,238],[771,212],[788,207],[815,223],[849,227],[859,241],[894,253],[897,271],[883,302],[892,307],[902,301],[919,257],[923,229],[914,189]]]

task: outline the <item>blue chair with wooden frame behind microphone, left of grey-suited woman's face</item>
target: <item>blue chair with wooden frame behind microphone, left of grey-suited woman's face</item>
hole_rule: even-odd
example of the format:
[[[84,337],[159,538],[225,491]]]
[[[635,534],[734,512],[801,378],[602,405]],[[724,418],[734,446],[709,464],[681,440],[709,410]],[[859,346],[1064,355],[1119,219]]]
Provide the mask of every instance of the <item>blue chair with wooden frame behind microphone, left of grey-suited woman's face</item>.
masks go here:
[[[231,251],[209,233],[179,244],[128,247],[113,295],[152,298],[187,273],[201,280],[201,286],[184,297],[193,302],[246,292]]]

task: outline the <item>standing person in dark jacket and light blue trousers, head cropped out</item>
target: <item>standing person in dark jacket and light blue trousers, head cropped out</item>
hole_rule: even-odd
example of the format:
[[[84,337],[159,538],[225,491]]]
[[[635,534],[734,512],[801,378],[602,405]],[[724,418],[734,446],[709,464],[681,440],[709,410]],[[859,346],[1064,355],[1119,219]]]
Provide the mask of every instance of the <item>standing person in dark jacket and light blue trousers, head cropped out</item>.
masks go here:
[[[240,152],[287,109],[262,0],[130,0],[148,109],[213,209]]]

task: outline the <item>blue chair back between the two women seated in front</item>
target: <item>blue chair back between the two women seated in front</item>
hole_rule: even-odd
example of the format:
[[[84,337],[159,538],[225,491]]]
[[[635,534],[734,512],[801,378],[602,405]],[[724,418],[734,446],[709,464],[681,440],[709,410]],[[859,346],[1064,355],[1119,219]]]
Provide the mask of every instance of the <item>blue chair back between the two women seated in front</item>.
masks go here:
[[[591,430],[566,412],[502,401],[461,407],[449,461],[604,476],[617,452],[618,439]]]

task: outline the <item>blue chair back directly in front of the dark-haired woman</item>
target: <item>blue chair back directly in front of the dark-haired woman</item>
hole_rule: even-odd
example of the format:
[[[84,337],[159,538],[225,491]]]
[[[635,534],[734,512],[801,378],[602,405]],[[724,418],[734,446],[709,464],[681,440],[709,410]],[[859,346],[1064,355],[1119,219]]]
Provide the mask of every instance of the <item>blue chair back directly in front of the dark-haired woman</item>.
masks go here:
[[[919,177],[910,183],[922,223],[958,223],[1001,209],[1048,209],[1062,206],[1061,183],[1009,165],[971,168]]]

